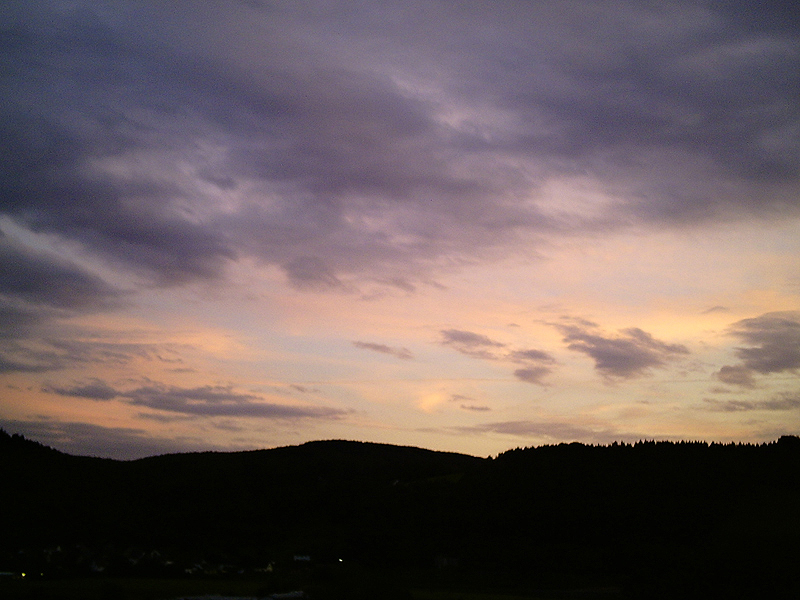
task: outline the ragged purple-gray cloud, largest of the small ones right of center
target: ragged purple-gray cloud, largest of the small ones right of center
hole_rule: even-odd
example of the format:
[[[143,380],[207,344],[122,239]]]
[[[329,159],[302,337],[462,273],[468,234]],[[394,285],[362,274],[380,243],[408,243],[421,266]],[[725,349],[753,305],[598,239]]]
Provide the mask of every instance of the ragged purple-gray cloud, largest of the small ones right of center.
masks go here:
[[[609,379],[640,377],[676,356],[689,354],[686,346],[662,342],[637,327],[623,329],[617,336],[607,335],[585,321],[556,327],[564,335],[567,348],[591,357],[595,369]]]

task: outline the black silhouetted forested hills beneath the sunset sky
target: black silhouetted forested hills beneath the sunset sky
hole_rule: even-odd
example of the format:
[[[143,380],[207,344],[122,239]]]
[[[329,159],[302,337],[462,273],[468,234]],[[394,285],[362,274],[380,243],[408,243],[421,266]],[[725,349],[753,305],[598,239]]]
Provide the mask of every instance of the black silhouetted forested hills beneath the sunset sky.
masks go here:
[[[792,436],[494,459],[325,441],[122,462],[0,431],[0,458],[0,571],[25,561],[51,576],[279,571],[299,557],[308,569],[342,559],[456,587],[800,597]]]

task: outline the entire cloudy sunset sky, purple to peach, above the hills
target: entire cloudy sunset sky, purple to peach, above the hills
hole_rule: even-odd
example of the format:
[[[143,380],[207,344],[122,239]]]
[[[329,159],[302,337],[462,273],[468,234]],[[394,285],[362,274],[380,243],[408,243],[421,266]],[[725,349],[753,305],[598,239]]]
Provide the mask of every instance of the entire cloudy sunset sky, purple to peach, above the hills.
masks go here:
[[[800,434],[800,12],[6,0],[0,428]]]

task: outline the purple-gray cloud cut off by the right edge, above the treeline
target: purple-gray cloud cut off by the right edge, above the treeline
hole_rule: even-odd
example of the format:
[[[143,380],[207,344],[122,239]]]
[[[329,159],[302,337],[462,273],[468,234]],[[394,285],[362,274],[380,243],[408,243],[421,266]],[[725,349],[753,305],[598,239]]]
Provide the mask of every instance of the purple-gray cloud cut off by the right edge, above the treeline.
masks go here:
[[[716,373],[724,383],[754,387],[757,375],[795,373],[800,369],[800,312],[742,319],[728,328],[728,334],[748,346],[736,348],[739,364],[725,365]]]

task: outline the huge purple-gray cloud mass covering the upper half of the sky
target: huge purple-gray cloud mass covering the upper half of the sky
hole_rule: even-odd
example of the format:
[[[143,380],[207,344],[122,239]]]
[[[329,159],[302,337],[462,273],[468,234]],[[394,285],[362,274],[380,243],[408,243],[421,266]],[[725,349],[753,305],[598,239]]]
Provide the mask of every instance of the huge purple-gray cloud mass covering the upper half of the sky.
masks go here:
[[[782,6],[8,4],[2,214],[162,285],[254,256],[314,289],[412,289],[526,232],[797,214]],[[563,177],[614,202],[554,216]]]

